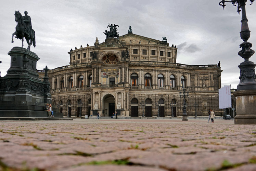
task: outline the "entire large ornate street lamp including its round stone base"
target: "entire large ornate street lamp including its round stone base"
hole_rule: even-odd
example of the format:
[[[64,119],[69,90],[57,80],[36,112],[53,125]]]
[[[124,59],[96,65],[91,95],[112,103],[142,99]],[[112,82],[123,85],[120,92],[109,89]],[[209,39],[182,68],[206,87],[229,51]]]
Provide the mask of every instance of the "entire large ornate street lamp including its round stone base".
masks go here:
[[[254,0],[250,0],[251,4]],[[255,53],[251,47],[252,43],[248,42],[250,37],[250,30],[248,27],[248,19],[246,17],[245,3],[247,0],[222,0],[219,2],[219,5],[225,8],[225,2],[231,2],[234,6],[237,6],[237,12],[240,14],[242,10],[242,20],[241,20],[241,32],[240,37],[244,41],[240,44],[241,51],[238,52],[238,55],[244,58],[238,67],[240,68],[240,82],[237,86],[237,91],[233,93],[236,97],[236,106],[237,106],[237,115],[235,116],[235,124],[256,124],[256,114],[252,111],[256,106],[256,101],[251,99],[256,98],[256,75],[255,75],[255,66],[252,61],[249,61],[249,58]],[[251,5],[250,4],[250,5]],[[241,9],[241,10],[240,10]],[[241,107],[243,106],[243,107]]]

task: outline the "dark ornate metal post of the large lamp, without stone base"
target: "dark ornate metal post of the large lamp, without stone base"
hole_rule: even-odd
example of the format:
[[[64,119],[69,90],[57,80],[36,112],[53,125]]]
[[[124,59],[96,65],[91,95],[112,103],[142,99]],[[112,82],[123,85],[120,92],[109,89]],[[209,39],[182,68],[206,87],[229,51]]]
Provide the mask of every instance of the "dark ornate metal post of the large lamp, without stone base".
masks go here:
[[[251,4],[254,2],[254,0],[250,0]],[[249,58],[255,53],[251,47],[252,43],[247,42],[247,40],[250,37],[250,30],[248,27],[248,19],[246,17],[245,12],[245,2],[247,0],[231,0],[231,1],[225,1],[222,0],[219,2],[219,5],[225,8],[225,2],[231,2],[234,6],[237,6],[237,12],[240,14],[240,9],[242,9],[242,26],[241,26],[241,32],[240,37],[243,39],[243,43],[240,44],[240,48],[242,48],[241,51],[238,52],[238,55],[244,58],[244,62],[242,62],[238,67],[240,68],[240,82],[237,86],[237,90],[256,90],[256,75],[255,75],[255,66],[252,61],[249,61]],[[250,5],[251,5],[250,4]]]

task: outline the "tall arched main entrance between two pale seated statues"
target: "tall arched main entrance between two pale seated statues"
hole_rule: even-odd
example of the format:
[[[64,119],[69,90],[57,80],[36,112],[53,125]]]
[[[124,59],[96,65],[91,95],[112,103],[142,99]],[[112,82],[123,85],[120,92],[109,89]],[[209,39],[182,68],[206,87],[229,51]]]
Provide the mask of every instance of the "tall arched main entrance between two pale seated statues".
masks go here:
[[[115,113],[115,97],[112,94],[107,94],[102,99],[102,110],[104,116],[112,116]]]

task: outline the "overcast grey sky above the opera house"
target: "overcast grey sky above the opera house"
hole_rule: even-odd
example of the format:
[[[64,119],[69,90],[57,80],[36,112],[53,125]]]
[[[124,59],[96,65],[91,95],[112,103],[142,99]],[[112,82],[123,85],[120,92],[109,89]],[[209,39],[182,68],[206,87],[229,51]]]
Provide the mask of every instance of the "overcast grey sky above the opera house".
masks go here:
[[[14,12],[28,12],[36,32],[36,48],[40,60],[37,69],[69,65],[69,50],[80,45],[92,46],[96,37],[105,40],[108,23],[119,25],[119,35],[127,34],[131,25],[134,34],[177,45],[177,63],[204,65],[221,63],[222,86],[236,89],[239,84],[238,55],[241,14],[231,3],[223,10],[220,0],[8,0],[1,2],[0,71],[4,76],[10,67],[7,54],[21,40],[14,39]],[[248,0],[249,1],[249,0]],[[246,3],[251,37],[256,51],[256,3]],[[24,41],[24,47],[27,43]],[[250,58],[256,63],[256,55]]]

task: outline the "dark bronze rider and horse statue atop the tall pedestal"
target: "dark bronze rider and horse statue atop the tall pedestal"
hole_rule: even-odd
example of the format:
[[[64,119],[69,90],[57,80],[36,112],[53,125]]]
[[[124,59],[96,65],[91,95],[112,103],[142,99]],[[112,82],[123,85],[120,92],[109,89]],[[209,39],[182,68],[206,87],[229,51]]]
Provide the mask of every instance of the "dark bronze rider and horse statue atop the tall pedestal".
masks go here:
[[[35,31],[32,29],[32,24],[31,24],[31,18],[29,15],[27,15],[27,11],[24,12],[24,16],[21,15],[20,11],[15,11],[14,16],[15,16],[15,21],[17,22],[16,27],[15,27],[15,32],[12,34],[12,43],[13,41],[13,36],[17,39],[22,40],[22,48],[23,48],[23,40],[24,37],[28,43],[27,50],[30,50],[30,46],[33,43],[33,46],[36,47],[36,37],[35,37]]]

